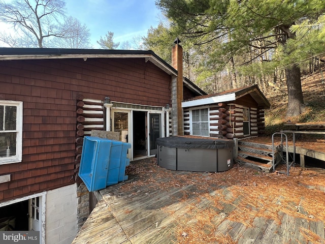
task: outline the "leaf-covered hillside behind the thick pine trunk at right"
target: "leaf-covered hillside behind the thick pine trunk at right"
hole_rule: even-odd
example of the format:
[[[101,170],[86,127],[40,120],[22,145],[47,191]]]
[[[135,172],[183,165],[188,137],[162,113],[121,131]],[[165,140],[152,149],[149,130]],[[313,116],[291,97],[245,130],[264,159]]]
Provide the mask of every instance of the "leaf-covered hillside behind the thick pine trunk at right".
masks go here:
[[[265,112],[265,126],[267,135],[283,128],[283,124],[290,120],[298,122],[325,121],[325,67],[312,74],[303,75],[302,90],[305,111],[299,116],[286,117],[287,88],[285,81],[272,93],[266,94],[271,103],[271,108]]]

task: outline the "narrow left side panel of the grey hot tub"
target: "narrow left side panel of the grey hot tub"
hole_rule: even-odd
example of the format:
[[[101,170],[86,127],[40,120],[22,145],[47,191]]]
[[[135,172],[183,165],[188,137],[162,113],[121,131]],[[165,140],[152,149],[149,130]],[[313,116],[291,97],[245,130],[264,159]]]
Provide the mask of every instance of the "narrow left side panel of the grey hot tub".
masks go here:
[[[166,169],[176,170],[177,149],[158,145],[158,165]]]

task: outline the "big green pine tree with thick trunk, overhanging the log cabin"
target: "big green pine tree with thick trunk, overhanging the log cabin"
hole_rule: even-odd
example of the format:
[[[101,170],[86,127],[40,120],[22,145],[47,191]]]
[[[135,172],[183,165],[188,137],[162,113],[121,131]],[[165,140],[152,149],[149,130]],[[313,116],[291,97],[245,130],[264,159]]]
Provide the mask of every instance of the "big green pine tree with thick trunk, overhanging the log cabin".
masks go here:
[[[233,82],[237,79],[236,70],[243,67],[265,74],[284,67],[287,116],[303,111],[298,65],[302,55],[298,55],[301,45],[295,24],[302,20],[317,21],[325,12],[325,1],[160,0],[157,4],[172,24],[196,45],[216,43],[217,48],[209,54],[210,62],[228,66],[234,76]],[[316,39],[323,47],[319,36]],[[310,43],[303,45],[307,49]],[[311,52],[305,54],[308,56]]]

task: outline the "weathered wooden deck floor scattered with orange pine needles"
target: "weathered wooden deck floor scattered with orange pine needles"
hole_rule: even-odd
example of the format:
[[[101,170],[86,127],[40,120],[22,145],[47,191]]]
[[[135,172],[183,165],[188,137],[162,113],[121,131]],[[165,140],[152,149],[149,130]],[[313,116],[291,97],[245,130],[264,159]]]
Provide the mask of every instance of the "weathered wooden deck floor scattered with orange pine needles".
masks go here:
[[[219,173],[135,161],[100,191],[77,243],[325,243],[325,170]]]

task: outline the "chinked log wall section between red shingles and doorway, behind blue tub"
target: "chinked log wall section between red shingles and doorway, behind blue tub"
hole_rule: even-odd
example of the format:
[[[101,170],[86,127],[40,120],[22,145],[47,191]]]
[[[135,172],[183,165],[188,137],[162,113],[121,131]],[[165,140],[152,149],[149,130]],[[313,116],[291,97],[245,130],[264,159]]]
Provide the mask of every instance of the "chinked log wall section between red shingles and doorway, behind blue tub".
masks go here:
[[[91,130],[104,130],[104,106],[101,100],[85,99],[77,96],[77,130],[75,180],[78,181],[83,137],[90,136]]]

